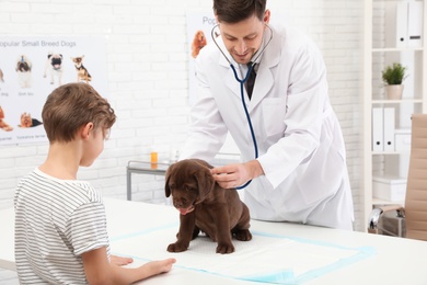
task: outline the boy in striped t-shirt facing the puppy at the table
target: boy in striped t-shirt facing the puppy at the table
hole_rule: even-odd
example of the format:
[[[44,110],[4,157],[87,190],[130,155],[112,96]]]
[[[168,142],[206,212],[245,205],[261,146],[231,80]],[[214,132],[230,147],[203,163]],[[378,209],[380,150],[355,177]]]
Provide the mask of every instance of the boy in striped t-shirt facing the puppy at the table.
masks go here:
[[[49,139],[46,161],[18,185],[15,259],[21,284],[130,284],[169,272],[175,259],[124,269],[112,256],[101,195],[77,180],[104,148],[114,110],[91,86],[54,90],[42,112]]]

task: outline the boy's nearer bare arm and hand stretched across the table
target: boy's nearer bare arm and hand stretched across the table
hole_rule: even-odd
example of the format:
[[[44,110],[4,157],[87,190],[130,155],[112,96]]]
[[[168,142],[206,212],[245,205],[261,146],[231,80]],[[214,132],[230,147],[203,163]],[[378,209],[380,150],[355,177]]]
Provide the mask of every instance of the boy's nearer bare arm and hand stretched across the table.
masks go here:
[[[131,284],[160,273],[169,272],[175,259],[151,261],[136,269],[125,269],[108,262],[106,248],[82,254],[84,273],[89,284]]]

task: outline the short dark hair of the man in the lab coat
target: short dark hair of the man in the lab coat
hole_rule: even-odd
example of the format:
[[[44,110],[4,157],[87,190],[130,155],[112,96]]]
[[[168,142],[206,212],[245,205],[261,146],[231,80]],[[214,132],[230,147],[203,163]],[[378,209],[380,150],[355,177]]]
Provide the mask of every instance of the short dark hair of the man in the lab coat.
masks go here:
[[[259,21],[264,19],[267,0],[214,0],[214,13],[219,22],[239,23],[253,14]]]

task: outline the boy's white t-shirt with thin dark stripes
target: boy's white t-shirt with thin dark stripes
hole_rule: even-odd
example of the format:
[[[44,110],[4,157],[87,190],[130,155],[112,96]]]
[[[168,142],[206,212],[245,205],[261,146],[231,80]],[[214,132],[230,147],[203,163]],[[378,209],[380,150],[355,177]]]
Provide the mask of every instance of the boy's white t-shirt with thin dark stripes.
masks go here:
[[[88,183],[35,169],[15,191],[15,261],[21,284],[88,284],[82,253],[107,248],[105,208]]]

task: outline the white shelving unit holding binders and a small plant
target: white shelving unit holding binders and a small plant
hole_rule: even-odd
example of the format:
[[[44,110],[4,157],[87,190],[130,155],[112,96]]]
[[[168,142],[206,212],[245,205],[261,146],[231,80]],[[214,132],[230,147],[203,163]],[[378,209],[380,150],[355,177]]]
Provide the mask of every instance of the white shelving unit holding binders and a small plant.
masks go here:
[[[390,175],[407,175],[408,160],[411,156],[411,116],[415,113],[427,113],[427,0],[403,1],[403,0],[365,0],[365,35],[363,35],[363,148],[362,148],[362,175],[363,193],[362,207],[363,219],[368,220],[372,207],[379,205],[404,205],[404,201],[386,201],[373,196],[374,174],[388,173]],[[411,21],[404,19],[406,11],[405,4],[408,4],[407,11],[415,16],[420,16],[420,39],[422,42],[408,42],[408,34],[404,34],[402,24]],[[423,3],[423,5],[420,5]],[[409,7],[412,5],[412,8]],[[414,9],[414,7],[416,9]],[[419,9],[422,7],[422,9]],[[420,12],[420,15],[418,14]],[[404,22],[406,21],[406,22]],[[400,25],[397,26],[397,22]],[[412,24],[419,21],[412,21]],[[415,23],[415,24],[416,24]],[[414,26],[414,25],[412,25]],[[417,30],[419,31],[419,30]],[[418,35],[418,34],[416,34]],[[405,43],[401,42],[402,39]],[[402,46],[401,46],[402,45]],[[403,46],[405,45],[405,46]],[[400,62],[407,68],[407,77],[403,84],[404,94],[402,100],[388,100],[385,96],[384,83],[382,81],[382,70],[393,62]],[[376,109],[378,119],[378,110],[394,109],[394,145],[399,151],[373,151],[372,138],[381,137],[379,135],[379,125],[384,127],[380,118],[373,123],[372,110]],[[390,114],[390,113],[388,113]],[[391,116],[390,116],[391,117]],[[391,125],[391,124],[390,124]],[[376,132],[372,132],[374,126]],[[383,130],[382,130],[383,132]],[[373,136],[374,134],[374,136]],[[390,141],[390,129],[388,138]],[[399,145],[397,145],[399,142]],[[378,185],[376,185],[378,195]],[[386,197],[386,196],[384,196]],[[399,196],[396,198],[400,198]]]

